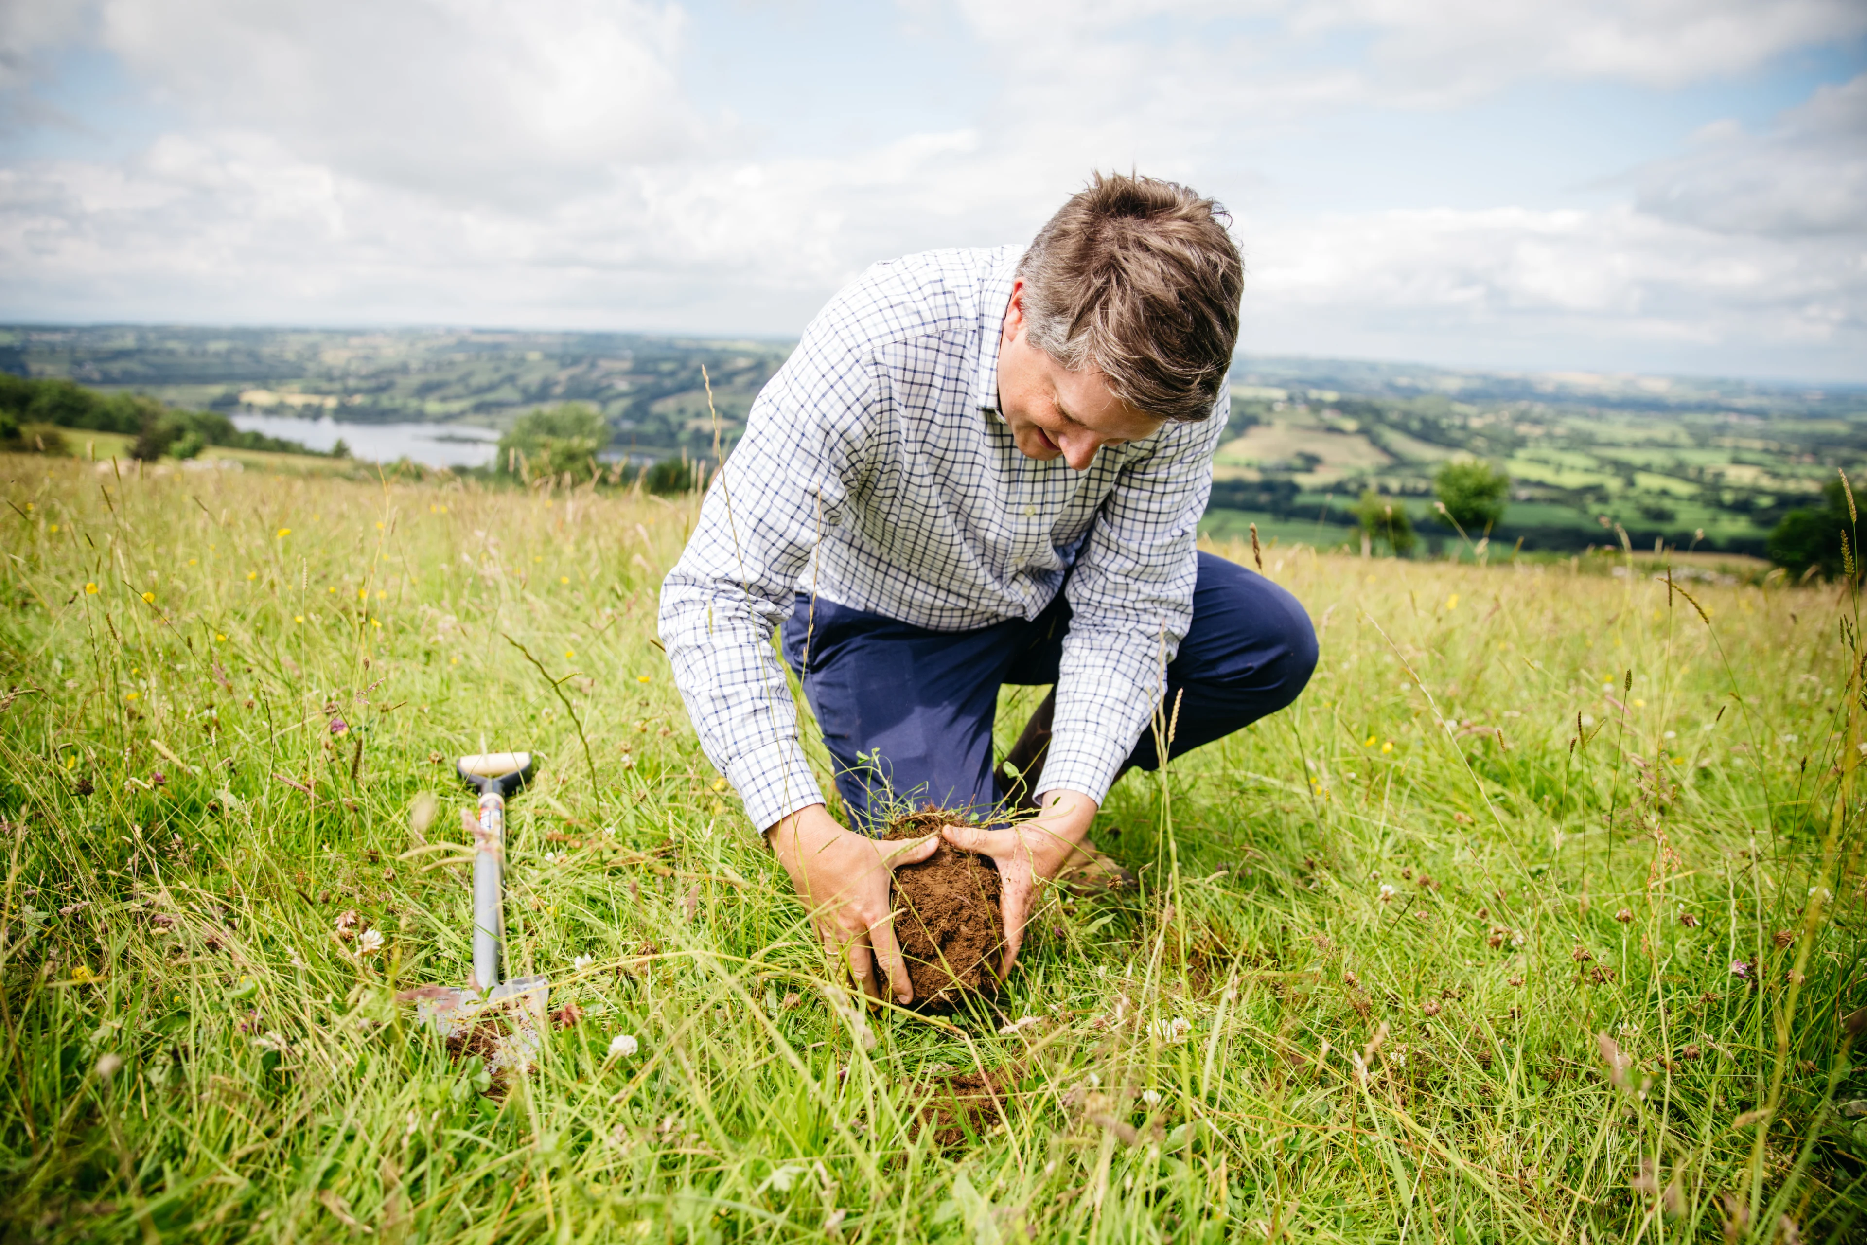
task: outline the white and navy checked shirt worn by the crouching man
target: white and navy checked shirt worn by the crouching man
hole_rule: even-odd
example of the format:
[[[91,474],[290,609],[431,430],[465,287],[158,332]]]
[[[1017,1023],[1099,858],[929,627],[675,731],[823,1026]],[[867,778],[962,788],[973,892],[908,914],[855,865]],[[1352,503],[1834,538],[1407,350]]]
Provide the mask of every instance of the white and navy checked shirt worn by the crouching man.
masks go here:
[[[1040,463],[999,414],[1021,248],[877,263],[752,403],[661,586],[661,640],[700,745],[760,831],[823,801],[773,650],[797,594],[928,627],[1036,618],[1068,594],[1046,790],[1102,801],[1193,618],[1212,418]],[[1064,586],[1068,584],[1068,586]]]

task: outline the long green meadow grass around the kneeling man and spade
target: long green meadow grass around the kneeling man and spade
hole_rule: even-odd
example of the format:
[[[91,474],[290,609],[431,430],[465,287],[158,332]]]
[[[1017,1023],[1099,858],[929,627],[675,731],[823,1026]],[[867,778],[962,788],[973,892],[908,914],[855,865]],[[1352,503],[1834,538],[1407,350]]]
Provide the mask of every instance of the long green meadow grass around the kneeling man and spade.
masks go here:
[[[0,478],[7,1239],[1861,1232],[1833,590],[1279,545],[1309,692],[1124,778],[1141,892],[1047,900],[930,1023],[848,1006],[698,750],[653,646],[691,504]],[[467,976],[416,849],[465,838],[439,758],[506,747],[510,963],[583,1019],[495,1098],[394,991]],[[943,1148],[965,1070],[1012,1088]]]

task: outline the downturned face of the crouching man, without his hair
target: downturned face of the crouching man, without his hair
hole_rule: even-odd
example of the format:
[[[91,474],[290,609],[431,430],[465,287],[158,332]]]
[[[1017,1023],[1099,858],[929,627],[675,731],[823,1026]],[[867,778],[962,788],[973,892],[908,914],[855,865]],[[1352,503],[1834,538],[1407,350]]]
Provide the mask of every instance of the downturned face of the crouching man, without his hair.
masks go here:
[[[1031,345],[1025,321],[1025,282],[1012,286],[999,340],[999,413],[1027,457],[1062,455],[1072,470],[1088,470],[1096,450],[1141,441],[1165,420],[1135,411],[1109,392],[1096,370],[1070,371]]]

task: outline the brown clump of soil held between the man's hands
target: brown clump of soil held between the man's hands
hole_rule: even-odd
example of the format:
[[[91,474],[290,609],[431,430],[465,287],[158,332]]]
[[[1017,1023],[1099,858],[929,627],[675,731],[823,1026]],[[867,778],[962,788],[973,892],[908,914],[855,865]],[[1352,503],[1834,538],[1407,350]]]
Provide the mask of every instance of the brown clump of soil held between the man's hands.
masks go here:
[[[943,825],[963,823],[934,808],[889,823],[883,838],[920,838]],[[967,993],[999,989],[1004,916],[999,907],[999,866],[976,851],[960,851],[945,838],[932,857],[894,870],[894,941],[907,961],[915,1008],[952,1012]]]

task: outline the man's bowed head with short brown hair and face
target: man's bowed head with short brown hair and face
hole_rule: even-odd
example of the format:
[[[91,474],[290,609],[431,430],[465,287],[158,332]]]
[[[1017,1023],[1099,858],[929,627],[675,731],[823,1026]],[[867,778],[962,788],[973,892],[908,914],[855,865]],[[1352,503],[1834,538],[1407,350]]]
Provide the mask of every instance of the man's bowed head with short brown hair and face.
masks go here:
[[[1243,261],[1225,209],[1152,177],[1096,175],[1018,265],[999,409],[1018,448],[1088,467],[1103,444],[1202,420],[1238,342]]]

